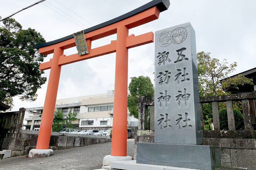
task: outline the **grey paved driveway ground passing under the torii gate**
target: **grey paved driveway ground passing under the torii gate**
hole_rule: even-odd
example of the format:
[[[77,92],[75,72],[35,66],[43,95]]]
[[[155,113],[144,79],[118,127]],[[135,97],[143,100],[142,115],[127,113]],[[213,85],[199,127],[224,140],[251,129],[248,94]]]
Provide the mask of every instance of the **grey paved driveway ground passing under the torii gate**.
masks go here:
[[[127,139],[127,155],[133,157],[134,139]],[[12,157],[0,160],[0,170],[92,170],[102,166],[104,156],[110,155],[111,143],[54,151],[45,158]],[[44,162],[44,164],[40,164]],[[67,166],[67,167],[62,167]]]

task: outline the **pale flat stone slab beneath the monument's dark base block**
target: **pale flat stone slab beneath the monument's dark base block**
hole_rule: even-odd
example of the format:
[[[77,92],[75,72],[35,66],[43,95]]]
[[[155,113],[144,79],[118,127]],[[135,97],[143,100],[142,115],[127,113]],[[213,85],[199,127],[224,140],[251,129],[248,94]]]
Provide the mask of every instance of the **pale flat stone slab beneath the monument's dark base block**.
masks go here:
[[[118,161],[111,162],[111,170],[202,170],[202,169],[190,169],[190,168],[179,168],[172,166],[161,166],[161,165],[150,165],[150,164],[139,164],[136,160]],[[220,167],[216,170],[247,170],[247,168],[230,168]]]

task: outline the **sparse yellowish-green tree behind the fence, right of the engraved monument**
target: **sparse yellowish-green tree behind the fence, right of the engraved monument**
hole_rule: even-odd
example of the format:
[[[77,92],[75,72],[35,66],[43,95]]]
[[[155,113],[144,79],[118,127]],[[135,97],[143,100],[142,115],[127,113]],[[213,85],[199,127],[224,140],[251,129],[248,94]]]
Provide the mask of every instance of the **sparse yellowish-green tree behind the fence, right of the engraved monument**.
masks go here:
[[[242,75],[236,76],[236,78],[229,78],[228,74],[232,73],[237,66],[236,62],[228,64],[224,59],[220,62],[217,58],[211,58],[210,53],[204,51],[197,53],[197,69],[198,69],[198,85],[199,96],[216,96],[229,94],[224,90],[228,90],[230,87],[238,89],[238,85],[250,84],[253,85],[252,80]],[[237,108],[239,103],[235,103]],[[219,108],[226,108],[225,103],[219,103]],[[204,115],[204,129],[212,129],[210,124],[212,123],[212,104],[203,104]]]

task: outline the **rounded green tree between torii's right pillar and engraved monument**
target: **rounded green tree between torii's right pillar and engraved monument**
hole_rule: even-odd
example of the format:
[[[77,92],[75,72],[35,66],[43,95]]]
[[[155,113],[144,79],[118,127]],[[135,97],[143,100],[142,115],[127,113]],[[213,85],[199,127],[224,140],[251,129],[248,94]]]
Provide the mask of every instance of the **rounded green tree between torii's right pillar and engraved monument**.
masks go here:
[[[145,96],[148,100],[152,100],[154,95],[154,86],[148,76],[139,76],[138,78],[132,78],[128,89],[131,93],[128,95],[128,110],[135,118],[138,119],[139,98]]]

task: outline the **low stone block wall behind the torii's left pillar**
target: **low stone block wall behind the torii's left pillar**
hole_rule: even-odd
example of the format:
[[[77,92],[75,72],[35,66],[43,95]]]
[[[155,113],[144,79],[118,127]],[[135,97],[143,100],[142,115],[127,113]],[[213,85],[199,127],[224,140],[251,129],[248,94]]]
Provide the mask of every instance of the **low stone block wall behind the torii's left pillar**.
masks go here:
[[[12,156],[28,155],[31,149],[36,148],[37,137],[38,131],[16,130],[4,138],[3,149],[12,150]],[[107,142],[111,142],[109,136],[52,132],[49,149],[55,151]]]

